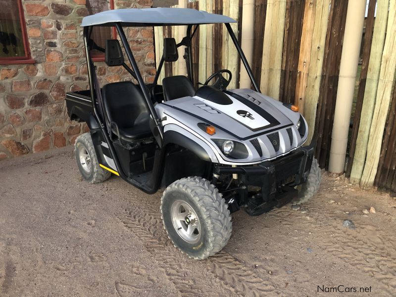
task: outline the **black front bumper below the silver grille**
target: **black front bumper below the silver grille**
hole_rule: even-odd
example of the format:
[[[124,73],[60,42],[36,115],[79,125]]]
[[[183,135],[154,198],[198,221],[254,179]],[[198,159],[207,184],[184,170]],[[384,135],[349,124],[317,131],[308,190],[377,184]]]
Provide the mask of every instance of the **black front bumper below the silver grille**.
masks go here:
[[[260,187],[261,192],[244,197],[245,208],[250,215],[258,215],[269,209],[281,207],[297,197],[295,186],[303,184],[309,175],[314,145],[298,148],[286,156],[259,165],[219,167],[219,174],[239,174],[239,181],[246,186]]]

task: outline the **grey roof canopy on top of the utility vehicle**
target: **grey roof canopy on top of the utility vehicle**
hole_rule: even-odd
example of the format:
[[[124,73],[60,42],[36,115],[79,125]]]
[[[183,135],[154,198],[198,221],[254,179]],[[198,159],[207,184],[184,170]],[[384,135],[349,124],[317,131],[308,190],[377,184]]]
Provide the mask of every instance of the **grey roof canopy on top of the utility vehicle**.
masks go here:
[[[191,8],[124,8],[112,9],[83,18],[85,26],[162,26],[189,24],[236,23],[236,20],[221,14],[208,13]]]

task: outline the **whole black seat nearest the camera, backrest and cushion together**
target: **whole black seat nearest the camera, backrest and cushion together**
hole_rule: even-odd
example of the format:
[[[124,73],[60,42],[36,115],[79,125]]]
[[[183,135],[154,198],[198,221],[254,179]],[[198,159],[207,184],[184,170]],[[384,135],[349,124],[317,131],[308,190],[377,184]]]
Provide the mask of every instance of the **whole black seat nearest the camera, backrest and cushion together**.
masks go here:
[[[111,132],[123,142],[131,143],[151,136],[148,125],[150,112],[142,91],[132,82],[117,82],[103,86],[103,108]],[[115,125],[116,123],[118,131]]]

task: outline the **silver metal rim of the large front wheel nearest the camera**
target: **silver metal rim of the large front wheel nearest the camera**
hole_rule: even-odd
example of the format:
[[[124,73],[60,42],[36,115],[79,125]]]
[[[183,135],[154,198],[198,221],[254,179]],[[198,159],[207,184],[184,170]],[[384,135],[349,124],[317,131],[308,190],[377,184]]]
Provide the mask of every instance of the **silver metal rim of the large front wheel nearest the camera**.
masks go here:
[[[197,243],[201,238],[201,224],[193,207],[184,200],[176,200],[172,203],[170,213],[179,236],[189,244]]]

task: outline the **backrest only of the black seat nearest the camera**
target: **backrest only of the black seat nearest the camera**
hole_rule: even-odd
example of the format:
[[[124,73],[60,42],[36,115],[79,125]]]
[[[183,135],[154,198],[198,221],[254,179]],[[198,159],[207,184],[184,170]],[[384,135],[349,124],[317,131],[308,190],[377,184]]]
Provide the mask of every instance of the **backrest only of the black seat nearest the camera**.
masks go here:
[[[120,129],[131,128],[149,116],[145,97],[132,82],[107,84],[102,96],[107,120],[117,123]]]

